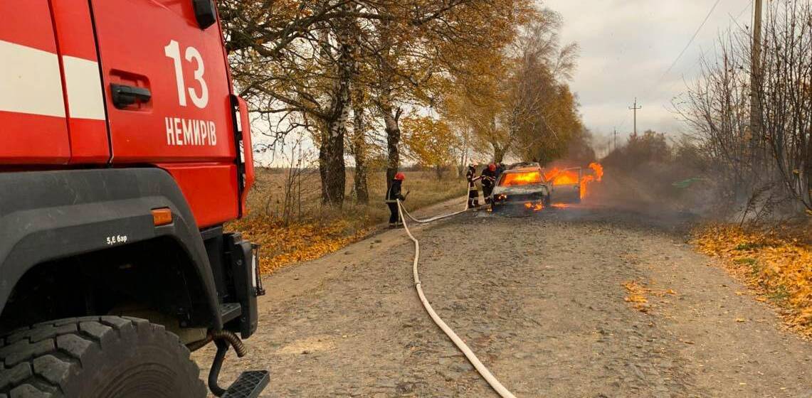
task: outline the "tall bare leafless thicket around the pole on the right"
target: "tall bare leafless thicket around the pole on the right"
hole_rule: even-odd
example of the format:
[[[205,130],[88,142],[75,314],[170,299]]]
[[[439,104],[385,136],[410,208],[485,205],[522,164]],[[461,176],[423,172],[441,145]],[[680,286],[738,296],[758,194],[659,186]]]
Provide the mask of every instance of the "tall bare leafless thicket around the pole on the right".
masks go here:
[[[723,182],[728,204],[773,208],[790,198],[812,213],[812,5],[771,2],[766,15],[758,68],[749,31],[721,36],[719,57],[702,59],[701,77],[674,108]]]

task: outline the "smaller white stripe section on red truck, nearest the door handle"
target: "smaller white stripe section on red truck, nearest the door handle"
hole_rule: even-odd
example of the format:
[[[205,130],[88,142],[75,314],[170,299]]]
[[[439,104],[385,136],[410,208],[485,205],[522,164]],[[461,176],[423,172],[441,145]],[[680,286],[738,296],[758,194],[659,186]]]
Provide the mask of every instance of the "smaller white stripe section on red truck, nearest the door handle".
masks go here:
[[[105,120],[98,62],[64,55],[62,65],[71,118]]]

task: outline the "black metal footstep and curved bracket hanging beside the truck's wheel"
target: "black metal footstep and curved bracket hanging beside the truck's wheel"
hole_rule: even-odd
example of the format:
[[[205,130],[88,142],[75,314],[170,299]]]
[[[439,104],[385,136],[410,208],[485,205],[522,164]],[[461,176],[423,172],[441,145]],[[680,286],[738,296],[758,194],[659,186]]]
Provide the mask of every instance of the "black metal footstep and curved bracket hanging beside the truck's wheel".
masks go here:
[[[215,331],[210,332],[206,340],[214,341],[214,345],[217,346],[217,353],[214,354],[214,362],[209,370],[209,391],[221,398],[257,398],[270,381],[267,370],[244,371],[227,389],[217,383],[229,346],[234,348],[237,357],[244,357],[248,353],[240,337],[228,331]]]

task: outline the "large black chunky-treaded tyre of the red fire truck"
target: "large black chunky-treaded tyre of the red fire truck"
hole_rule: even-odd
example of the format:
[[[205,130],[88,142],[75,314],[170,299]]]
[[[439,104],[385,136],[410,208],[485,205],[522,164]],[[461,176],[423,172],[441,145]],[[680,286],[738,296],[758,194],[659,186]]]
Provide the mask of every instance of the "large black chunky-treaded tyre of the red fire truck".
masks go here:
[[[0,337],[0,398],[199,398],[178,336],[145,319],[91,316]]]

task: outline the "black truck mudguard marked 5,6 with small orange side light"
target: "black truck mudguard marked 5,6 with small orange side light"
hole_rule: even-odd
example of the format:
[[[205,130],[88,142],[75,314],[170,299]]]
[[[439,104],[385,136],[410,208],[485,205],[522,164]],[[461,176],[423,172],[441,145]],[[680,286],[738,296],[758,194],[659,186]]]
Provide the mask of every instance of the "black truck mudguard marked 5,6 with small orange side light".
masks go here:
[[[152,209],[170,208],[155,226]],[[184,195],[157,168],[0,173],[0,311],[25,272],[51,260],[152,238],[186,250],[206,293],[208,323],[222,328],[205,246]]]

